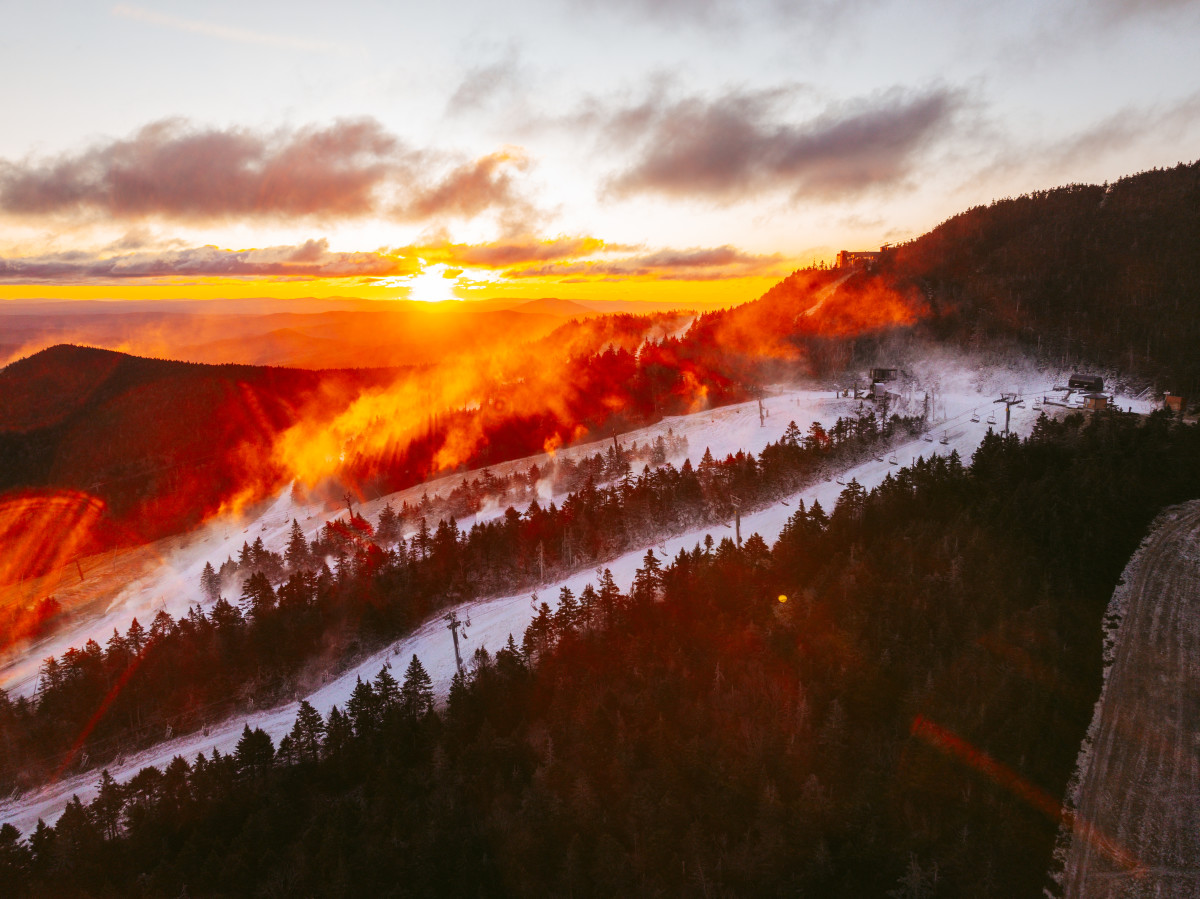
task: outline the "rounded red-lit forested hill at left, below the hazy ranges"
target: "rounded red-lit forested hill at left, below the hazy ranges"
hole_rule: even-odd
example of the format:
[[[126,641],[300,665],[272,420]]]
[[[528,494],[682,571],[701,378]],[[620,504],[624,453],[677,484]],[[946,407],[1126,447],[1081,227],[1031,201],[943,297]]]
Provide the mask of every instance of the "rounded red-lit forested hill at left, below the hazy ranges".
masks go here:
[[[250,485],[286,473],[274,440],[396,370],[302,371],[142,359],[60,346],[0,370],[0,537],[43,526],[55,497],[95,498],[76,552],[152,540],[202,521]],[[40,573],[24,559],[13,576]]]

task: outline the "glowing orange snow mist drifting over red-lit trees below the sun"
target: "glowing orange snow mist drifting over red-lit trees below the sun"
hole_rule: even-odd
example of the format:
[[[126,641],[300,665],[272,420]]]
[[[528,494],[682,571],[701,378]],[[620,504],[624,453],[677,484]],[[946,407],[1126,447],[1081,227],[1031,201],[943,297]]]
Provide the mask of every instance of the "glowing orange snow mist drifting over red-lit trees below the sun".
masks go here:
[[[275,456],[312,486],[370,468],[371,460],[410,467],[419,480],[490,454],[527,455],[576,440],[628,407],[625,379],[636,368],[637,348],[679,318],[588,319],[541,341],[491,347],[408,372],[386,388],[364,391],[336,415],[289,428],[276,442]],[[684,390],[703,392],[695,376],[685,380]]]

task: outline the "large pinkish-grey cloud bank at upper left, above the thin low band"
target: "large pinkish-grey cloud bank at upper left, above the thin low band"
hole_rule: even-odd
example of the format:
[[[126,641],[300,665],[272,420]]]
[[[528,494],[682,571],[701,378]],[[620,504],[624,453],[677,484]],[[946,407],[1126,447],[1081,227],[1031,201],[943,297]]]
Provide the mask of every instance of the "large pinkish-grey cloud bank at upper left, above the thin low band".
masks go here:
[[[516,149],[467,162],[414,149],[373,119],[269,133],[175,119],[55,158],[0,160],[0,211],[185,221],[488,210],[528,217],[532,205],[514,179],[528,167]]]

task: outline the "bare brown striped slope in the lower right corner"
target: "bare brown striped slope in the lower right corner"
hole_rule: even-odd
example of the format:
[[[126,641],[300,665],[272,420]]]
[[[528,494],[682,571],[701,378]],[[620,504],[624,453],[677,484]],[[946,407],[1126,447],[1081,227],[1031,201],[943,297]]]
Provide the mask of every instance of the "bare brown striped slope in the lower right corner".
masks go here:
[[[1200,501],[1159,520],[1115,599],[1063,892],[1200,897]]]

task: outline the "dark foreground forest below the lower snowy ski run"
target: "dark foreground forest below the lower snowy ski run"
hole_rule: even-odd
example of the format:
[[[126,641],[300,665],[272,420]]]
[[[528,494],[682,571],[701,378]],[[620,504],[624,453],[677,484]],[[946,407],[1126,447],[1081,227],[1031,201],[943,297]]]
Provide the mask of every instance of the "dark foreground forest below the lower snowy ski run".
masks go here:
[[[1200,430],[1039,421],[920,461],[774,547],[648,553],[433,711],[415,658],[280,745],[104,775],[17,895],[1039,895],[1099,619]]]

